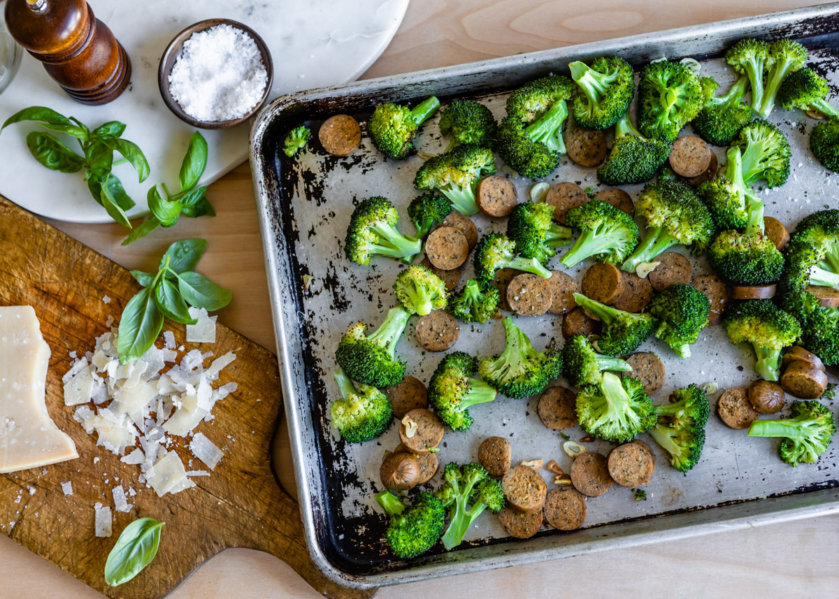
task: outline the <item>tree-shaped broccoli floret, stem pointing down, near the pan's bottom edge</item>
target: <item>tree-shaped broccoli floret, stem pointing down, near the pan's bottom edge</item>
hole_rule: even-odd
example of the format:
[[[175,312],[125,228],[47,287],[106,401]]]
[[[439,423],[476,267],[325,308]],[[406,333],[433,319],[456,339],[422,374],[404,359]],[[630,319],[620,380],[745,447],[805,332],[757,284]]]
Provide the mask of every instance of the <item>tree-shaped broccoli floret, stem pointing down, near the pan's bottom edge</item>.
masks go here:
[[[446,464],[443,487],[436,493],[449,510],[449,528],[443,534],[443,546],[453,550],[463,542],[472,523],[485,509],[498,513],[507,505],[501,483],[489,477],[480,464]]]

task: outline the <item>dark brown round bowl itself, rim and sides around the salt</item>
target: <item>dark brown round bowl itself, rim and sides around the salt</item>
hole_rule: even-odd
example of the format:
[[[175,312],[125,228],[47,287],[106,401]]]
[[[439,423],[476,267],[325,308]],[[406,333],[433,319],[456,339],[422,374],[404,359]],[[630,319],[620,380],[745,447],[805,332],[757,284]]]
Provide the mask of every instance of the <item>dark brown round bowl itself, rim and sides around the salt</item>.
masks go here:
[[[180,55],[180,50],[184,47],[184,42],[187,39],[190,39],[192,34],[200,31],[206,31],[206,29],[210,29],[216,25],[230,25],[236,29],[241,29],[253,38],[253,41],[256,42],[257,48],[259,49],[259,54],[262,56],[265,70],[268,73],[268,81],[265,82],[265,92],[263,93],[262,99],[259,100],[257,105],[243,117],[233,118],[229,121],[199,121],[194,117],[190,117],[190,115],[184,112],[184,109],[180,107],[180,104],[175,102],[175,98],[173,98],[172,94],[169,92],[169,73],[172,72],[172,67],[175,65],[175,60],[177,60],[178,55]],[[181,121],[187,122],[193,127],[201,129],[227,129],[229,127],[235,127],[241,122],[247,121],[248,118],[253,117],[253,115],[263,107],[265,101],[268,100],[268,94],[271,93],[271,84],[273,82],[274,63],[271,61],[271,53],[268,52],[268,46],[265,45],[265,42],[261,37],[259,37],[257,32],[249,28],[248,25],[239,23],[238,21],[232,21],[229,18],[208,18],[206,21],[199,21],[198,23],[190,25],[181,31],[180,34],[175,35],[175,39],[172,39],[172,41],[169,42],[169,45],[166,46],[163,58],[160,59],[160,66],[158,69],[160,95],[163,96],[163,101],[166,106],[169,107],[169,110],[174,112],[175,116],[180,118]]]

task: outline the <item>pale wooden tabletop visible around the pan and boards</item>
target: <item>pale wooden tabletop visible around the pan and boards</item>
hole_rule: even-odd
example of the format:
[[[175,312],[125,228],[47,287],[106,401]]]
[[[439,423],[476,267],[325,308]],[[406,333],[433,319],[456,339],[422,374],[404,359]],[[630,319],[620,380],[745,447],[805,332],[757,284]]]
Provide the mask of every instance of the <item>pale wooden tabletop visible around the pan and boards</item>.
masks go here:
[[[798,8],[814,0],[413,0],[393,42],[365,77],[454,65],[495,56],[549,49],[660,29]],[[279,61],[281,68],[282,61]],[[29,159],[29,157],[21,157]],[[182,219],[128,248],[117,225],[57,227],[128,268],[153,269],[170,242],[185,237],[209,241],[201,272],[233,290],[219,320],[274,349],[262,247],[248,164],[212,185],[207,193],[218,216]],[[275,466],[294,489],[286,435],[279,435]],[[693,597],[837,596],[839,518],[826,517],[759,529],[586,555],[540,565],[495,570],[384,589],[420,596]],[[606,570],[607,568],[607,570]],[[96,599],[96,591],[57,566],[0,535],[0,597]],[[317,596],[294,570],[271,555],[227,550],[178,588],[172,599],[211,597],[311,598]]]

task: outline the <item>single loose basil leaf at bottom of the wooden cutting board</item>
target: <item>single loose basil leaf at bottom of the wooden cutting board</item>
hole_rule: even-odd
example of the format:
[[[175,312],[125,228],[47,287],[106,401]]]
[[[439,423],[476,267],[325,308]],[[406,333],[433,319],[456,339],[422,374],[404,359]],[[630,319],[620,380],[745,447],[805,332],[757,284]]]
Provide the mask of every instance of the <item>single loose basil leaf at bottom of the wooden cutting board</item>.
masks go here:
[[[130,581],[154,560],[163,526],[164,522],[154,518],[138,518],[122,530],[105,561],[108,585],[119,586]]]

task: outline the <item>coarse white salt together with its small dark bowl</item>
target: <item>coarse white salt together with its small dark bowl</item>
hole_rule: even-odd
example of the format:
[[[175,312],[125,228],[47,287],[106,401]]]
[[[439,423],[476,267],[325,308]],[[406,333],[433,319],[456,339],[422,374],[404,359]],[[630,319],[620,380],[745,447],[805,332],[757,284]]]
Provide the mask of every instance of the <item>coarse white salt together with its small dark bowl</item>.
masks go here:
[[[245,122],[268,100],[274,65],[247,25],[209,18],[190,25],[160,59],[160,95],[182,121],[202,129]]]

